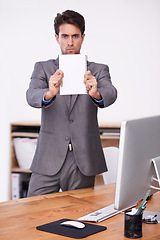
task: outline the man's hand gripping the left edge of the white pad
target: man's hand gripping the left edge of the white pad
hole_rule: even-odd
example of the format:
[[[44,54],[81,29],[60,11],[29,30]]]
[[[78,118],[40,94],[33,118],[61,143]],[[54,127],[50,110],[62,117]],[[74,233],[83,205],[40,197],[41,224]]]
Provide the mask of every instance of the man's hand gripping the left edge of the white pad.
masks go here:
[[[49,79],[49,90],[45,94],[45,100],[50,100],[59,93],[59,87],[63,86],[63,72],[58,69]]]

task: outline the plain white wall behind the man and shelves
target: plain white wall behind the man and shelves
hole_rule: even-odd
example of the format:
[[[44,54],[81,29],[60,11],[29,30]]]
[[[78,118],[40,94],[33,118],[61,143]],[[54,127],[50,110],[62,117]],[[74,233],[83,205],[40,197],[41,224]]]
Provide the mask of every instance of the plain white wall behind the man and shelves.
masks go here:
[[[160,114],[159,0],[0,0],[0,201],[9,194],[9,123],[40,120],[26,103],[34,63],[56,58],[53,19],[66,9],[86,19],[82,53],[110,67],[118,100],[102,122]],[[3,139],[3,140],[2,140]]]

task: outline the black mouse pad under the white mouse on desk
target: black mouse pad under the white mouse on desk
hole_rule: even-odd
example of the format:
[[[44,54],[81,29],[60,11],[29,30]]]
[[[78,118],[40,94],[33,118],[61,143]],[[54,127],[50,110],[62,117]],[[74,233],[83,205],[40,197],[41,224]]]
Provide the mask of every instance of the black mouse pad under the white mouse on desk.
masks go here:
[[[88,237],[92,234],[101,232],[106,230],[107,228],[104,226],[99,226],[95,224],[90,224],[90,223],[84,223],[85,228],[77,229],[73,227],[67,227],[67,226],[61,226],[62,222],[65,221],[74,221],[71,219],[60,219],[55,222],[47,223],[41,226],[37,226],[36,228],[41,231],[49,232],[49,233],[54,233],[70,238],[85,238]]]

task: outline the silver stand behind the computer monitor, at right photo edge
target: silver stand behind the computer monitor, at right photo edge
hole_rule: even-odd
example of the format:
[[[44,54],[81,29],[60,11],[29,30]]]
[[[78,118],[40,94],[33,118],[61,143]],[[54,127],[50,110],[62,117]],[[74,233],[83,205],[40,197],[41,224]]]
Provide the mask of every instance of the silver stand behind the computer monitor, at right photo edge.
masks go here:
[[[152,159],[153,167],[156,173],[157,178],[152,177],[152,181],[158,183],[159,187],[150,186],[152,189],[160,190],[160,156]]]

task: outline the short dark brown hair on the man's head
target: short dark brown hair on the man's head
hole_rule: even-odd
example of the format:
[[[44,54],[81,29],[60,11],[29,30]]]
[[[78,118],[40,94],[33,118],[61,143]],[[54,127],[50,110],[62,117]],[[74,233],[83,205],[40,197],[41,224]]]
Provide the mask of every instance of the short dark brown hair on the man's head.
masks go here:
[[[73,10],[66,10],[62,14],[57,13],[57,16],[54,19],[54,30],[57,35],[59,35],[59,26],[68,23],[77,26],[81,33],[85,31],[85,20],[84,17]]]

